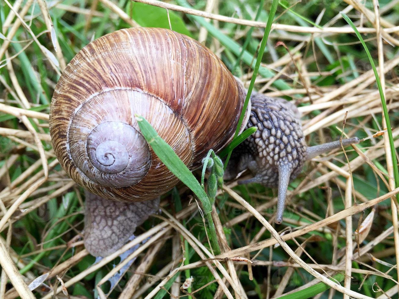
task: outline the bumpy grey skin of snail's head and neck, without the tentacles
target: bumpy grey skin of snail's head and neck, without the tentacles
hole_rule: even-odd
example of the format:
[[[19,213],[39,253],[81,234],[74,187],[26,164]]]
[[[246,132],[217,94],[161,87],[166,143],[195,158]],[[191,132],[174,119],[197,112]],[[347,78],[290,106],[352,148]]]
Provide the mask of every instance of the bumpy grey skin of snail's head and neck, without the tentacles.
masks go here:
[[[279,169],[285,168],[295,178],[302,170],[306,156],[306,143],[296,106],[281,98],[269,98],[255,93],[252,97],[251,116],[247,127],[258,130],[241,145],[245,148],[248,168],[256,173],[251,179],[270,187],[279,183]],[[245,155],[245,154],[244,154]],[[253,161],[251,158],[253,157]],[[254,167],[269,165],[269,167]]]

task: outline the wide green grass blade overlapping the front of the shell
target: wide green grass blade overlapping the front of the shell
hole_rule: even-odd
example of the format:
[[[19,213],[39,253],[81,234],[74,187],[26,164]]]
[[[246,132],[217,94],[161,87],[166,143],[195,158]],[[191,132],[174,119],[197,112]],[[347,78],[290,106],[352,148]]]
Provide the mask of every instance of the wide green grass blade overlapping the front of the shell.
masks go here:
[[[219,244],[217,243],[215,224],[213,223],[211,216],[212,205],[204,189],[199,185],[196,177],[194,177],[186,164],[184,164],[179,156],[176,155],[170,145],[158,135],[156,130],[152,128],[151,124],[142,116],[136,115],[136,120],[142,135],[154,150],[154,153],[160,158],[166,167],[168,167],[168,169],[176,175],[178,179],[180,179],[180,181],[182,181],[195,193],[195,195],[197,195],[198,199],[201,201],[203,213],[205,218],[208,220],[213,250],[215,253],[217,252],[217,254],[219,254],[220,249]]]

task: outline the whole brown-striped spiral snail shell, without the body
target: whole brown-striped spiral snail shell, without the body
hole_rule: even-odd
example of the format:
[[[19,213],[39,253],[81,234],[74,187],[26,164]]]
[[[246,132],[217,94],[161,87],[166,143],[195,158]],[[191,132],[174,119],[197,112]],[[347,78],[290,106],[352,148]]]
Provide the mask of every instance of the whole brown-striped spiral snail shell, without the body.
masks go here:
[[[233,137],[245,90],[194,39],[130,28],[89,43],[67,65],[50,107],[55,154],[70,177],[99,196],[153,199],[178,179],[140,133],[144,116],[194,169]]]

